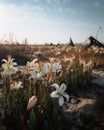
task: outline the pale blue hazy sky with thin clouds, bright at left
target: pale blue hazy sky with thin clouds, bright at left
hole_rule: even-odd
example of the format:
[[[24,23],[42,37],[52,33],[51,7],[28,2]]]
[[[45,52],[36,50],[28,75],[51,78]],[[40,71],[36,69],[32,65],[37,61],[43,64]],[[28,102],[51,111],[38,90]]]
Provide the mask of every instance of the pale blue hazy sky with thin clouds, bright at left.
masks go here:
[[[104,42],[104,0],[0,0],[0,39],[30,43]]]

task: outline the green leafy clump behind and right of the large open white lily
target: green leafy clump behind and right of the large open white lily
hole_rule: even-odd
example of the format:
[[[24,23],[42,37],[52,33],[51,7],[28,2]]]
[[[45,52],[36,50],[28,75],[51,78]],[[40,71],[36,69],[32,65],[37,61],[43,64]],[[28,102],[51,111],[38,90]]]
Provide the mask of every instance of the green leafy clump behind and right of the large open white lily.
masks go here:
[[[67,84],[68,92],[72,90],[76,93],[77,90],[84,90],[90,85],[91,71],[83,71],[83,67],[70,69],[63,75],[62,82]]]

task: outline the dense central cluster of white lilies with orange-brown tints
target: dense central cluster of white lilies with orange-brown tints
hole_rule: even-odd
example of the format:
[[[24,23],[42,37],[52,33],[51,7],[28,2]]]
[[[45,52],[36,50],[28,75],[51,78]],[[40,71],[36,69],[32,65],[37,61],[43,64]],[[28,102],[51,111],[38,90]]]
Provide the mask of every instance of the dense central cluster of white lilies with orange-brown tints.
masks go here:
[[[27,68],[30,73],[30,78],[44,80],[46,76],[54,76],[62,70],[62,66],[58,61],[50,59],[49,62],[43,63],[38,59],[33,59],[31,62],[27,62]]]

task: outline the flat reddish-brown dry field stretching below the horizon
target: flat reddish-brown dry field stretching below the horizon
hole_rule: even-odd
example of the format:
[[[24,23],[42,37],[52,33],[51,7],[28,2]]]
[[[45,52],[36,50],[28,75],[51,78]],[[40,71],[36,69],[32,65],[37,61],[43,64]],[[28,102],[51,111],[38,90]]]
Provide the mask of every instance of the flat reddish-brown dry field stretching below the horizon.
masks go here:
[[[104,67],[104,48],[86,45],[0,45],[0,61],[12,55],[18,65],[26,65],[33,58],[46,61],[56,58],[63,64],[69,64],[68,58],[93,60],[97,67]],[[0,65],[2,63],[0,62]]]

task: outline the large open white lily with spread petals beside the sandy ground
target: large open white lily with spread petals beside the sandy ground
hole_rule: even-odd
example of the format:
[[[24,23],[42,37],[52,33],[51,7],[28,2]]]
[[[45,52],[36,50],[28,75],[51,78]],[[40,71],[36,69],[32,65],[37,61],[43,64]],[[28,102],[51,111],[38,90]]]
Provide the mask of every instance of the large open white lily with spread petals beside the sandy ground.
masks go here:
[[[59,106],[62,106],[64,104],[64,98],[66,98],[67,102],[69,101],[69,95],[64,92],[66,90],[66,85],[64,83],[62,83],[60,86],[54,83],[52,86],[56,90],[51,93],[51,97],[59,99]]]

